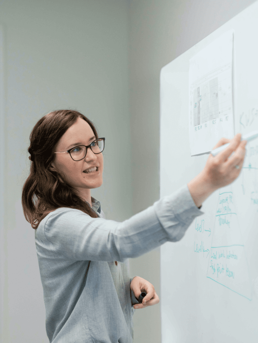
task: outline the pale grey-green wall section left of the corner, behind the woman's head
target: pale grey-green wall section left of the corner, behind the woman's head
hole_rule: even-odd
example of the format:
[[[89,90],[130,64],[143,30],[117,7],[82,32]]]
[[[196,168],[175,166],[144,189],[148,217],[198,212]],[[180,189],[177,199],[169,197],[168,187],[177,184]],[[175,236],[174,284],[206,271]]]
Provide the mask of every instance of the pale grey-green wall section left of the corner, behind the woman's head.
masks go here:
[[[92,190],[108,219],[132,215],[125,1],[0,1],[5,34],[3,343],[47,343],[34,229],[22,186],[29,134],[39,118],[75,108],[106,138],[103,185]],[[118,144],[119,142],[119,144]]]

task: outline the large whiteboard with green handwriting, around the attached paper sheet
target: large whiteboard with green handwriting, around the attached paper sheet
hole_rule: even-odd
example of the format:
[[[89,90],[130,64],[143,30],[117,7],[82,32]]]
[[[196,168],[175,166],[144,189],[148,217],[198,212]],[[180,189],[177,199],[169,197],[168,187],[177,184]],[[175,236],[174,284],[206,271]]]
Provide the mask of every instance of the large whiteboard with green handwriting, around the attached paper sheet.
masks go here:
[[[258,130],[258,1],[160,72],[160,197],[201,172],[189,143],[189,59],[234,30],[234,134]],[[258,342],[258,139],[185,236],[160,247],[162,343]]]

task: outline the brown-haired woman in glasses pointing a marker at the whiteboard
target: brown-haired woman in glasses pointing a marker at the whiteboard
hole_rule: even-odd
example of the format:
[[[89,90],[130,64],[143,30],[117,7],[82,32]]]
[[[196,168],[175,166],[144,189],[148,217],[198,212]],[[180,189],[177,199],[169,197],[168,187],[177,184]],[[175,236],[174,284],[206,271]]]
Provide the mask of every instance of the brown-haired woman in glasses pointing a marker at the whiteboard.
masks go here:
[[[133,342],[135,308],[159,298],[151,283],[129,278],[128,258],[180,240],[203,214],[203,201],[237,178],[247,142],[237,134],[215,148],[228,142],[188,185],[120,223],[106,220],[90,194],[102,185],[105,143],[93,123],[74,110],[51,112],[36,123],[22,205],[35,229],[50,342]]]

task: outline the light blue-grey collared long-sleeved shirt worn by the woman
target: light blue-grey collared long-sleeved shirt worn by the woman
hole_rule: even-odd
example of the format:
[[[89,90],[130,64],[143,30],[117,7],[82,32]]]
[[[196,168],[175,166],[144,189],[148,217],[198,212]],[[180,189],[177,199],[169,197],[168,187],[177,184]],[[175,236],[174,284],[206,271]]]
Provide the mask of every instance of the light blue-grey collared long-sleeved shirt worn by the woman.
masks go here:
[[[92,208],[99,218],[59,208],[35,230],[50,343],[132,343],[129,258],[180,240],[203,214],[187,185],[123,222]]]

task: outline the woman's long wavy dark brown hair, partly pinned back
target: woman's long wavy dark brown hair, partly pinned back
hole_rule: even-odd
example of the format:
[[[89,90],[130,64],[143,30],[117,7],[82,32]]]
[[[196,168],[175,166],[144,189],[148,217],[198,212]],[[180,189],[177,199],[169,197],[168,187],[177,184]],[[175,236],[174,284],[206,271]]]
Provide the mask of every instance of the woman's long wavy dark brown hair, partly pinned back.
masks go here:
[[[62,135],[78,118],[90,125],[96,138],[97,131],[93,123],[75,110],[57,110],[48,113],[34,126],[30,133],[31,154],[30,174],[22,189],[22,207],[24,216],[34,229],[51,211],[60,207],[78,209],[98,218],[90,205],[79,197],[78,192],[66,182],[61,182],[61,175],[49,169],[54,159],[54,147]],[[91,201],[94,199],[91,197]]]

